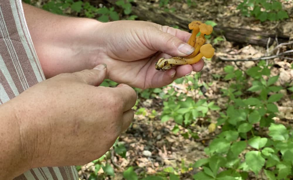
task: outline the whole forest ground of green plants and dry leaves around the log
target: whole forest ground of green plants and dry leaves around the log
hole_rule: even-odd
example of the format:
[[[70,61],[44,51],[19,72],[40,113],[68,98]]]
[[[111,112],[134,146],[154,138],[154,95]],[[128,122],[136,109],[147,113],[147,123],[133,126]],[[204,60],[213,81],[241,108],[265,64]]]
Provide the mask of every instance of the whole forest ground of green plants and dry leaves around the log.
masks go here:
[[[104,22],[138,17],[132,0],[117,1],[115,7],[107,1],[28,2]],[[221,21],[270,31],[282,23],[280,31],[293,32],[292,0],[148,2],[214,26]],[[102,158],[77,167],[80,179],[293,178],[293,57],[260,58],[288,51],[292,44],[260,47],[213,34],[208,41],[216,54],[200,73],[163,88],[136,89],[134,122]],[[219,56],[260,60],[221,61]]]

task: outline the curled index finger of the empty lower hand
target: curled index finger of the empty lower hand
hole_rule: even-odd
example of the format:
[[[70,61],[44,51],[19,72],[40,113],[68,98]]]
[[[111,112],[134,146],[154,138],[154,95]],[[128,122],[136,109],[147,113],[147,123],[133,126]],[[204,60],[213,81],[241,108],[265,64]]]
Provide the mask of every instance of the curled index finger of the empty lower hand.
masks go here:
[[[130,110],[136,103],[137,94],[134,89],[126,84],[119,84],[113,88],[114,93],[122,98],[123,112]]]

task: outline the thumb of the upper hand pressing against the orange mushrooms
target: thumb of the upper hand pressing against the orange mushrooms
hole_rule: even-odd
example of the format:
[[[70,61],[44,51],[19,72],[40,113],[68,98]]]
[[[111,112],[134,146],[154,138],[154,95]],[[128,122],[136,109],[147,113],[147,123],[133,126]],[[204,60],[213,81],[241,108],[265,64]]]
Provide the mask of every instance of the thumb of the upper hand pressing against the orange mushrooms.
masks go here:
[[[162,51],[163,53],[167,53],[171,56],[187,56],[193,53],[194,47],[178,38],[182,37],[182,39],[186,39],[186,36],[190,36],[190,34],[183,31],[173,32],[176,30],[171,27],[168,28],[169,30],[165,30],[166,32],[157,30],[151,34],[151,46],[154,47],[155,50]]]

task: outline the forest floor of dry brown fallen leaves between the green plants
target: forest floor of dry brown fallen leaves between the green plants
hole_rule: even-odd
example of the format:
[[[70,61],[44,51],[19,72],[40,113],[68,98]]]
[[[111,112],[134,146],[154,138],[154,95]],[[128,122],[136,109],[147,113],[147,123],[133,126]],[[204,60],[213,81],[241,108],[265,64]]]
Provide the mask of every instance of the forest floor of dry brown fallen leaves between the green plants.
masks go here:
[[[265,30],[270,31],[276,27],[275,22],[260,22],[253,17],[244,17],[237,10],[238,0],[212,0],[212,1],[196,1],[195,7],[189,7],[187,4],[180,1],[170,1],[168,8],[175,8],[174,13],[185,13],[195,20],[213,20],[214,22],[221,21],[222,24],[226,23],[230,27],[249,27],[253,30]],[[158,0],[149,1],[150,6],[159,6]],[[289,19],[281,22],[284,26],[281,29],[287,33],[293,31],[293,1],[284,1],[284,7],[289,13]],[[200,8],[196,8],[200,7]],[[212,8],[216,7],[216,8]],[[164,8],[164,7],[162,7]],[[224,18],[223,18],[224,17]],[[293,37],[293,33],[292,33]],[[214,37],[215,38],[215,37]],[[223,37],[223,39],[225,39]],[[209,84],[208,89],[200,95],[200,90],[186,89],[189,85],[186,82],[184,84],[173,83],[173,87],[177,93],[183,93],[187,96],[192,96],[195,99],[207,97],[209,100],[214,100],[216,104],[225,109],[224,104],[228,101],[228,98],[222,97],[220,89],[229,87],[231,82],[223,79],[224,67],[226,65],[232,65],[235,68],[247,70],[254,66],[256,62],[223,62],[219,60],[219,56],[234,57],[237,59],[258,58],[266,56],[268,51],[276,46],[274,43],[271,47],[260,47],[250,44],[236,44],[229,41],[219,41],[214,43],[213,46],[216,49],[215,57],[212,60],[205,60],[205,67],[201,71],[201,77],[199,84]],[[282,46],[280,51],[292,49],[291,46]],[[276,53],[276,51],[274,51]],[[292,58],[292,56],[290,57]],[[271,75],[279,75],[280,78],[277,85],[292,86],[293,69],[292,59],[275,58],[268,60],[269,63],[273,63],[271,67]],[[193,73],[191,76],[193,76]],[[216,75],[216,76],[215,76]],[[167,90],[170,86],[166,86],[164,90]],[[292,92],[287,90],[281,90],[284,97],[278,104],[279,113],[275,120],[282,122],[283,124],[293,126],[293,101]],[[137,174],[156,174],[162,172],[166,167],[173,167],[180,174],[180,179],[192,179],[192,175],[198,171],[198,169],[185,169],[190,163],[194,163],[196,160],[205,157],[204,148],[209,144],[209,140],[219,133],[220,127],[217,127],[214,132],[209,132],[208,125],[211,122],[216,122],[219,117],[219,112],[208,113],[205,118],[199,118],[194,124],[193,130],[198,133],[199,139],[184,138],[180,135],[180,132],[174,134],[172,132],[175,122],[169,120],[167,122],[161,122],[160,115],[163,108],[163,100],[159,97],[152,97],[145,99],[140,97],[140,102],[137,104],[137,108],[145,108],[144,114],[135,115],[134,122],[124,132],[120,138],[120,143],[124,143],[127,153],[126,158],[114,153],[113,148],[110,150],[108,159],[109,163],[113,165],[115,169],[115,179],[123,179],[123,171],[130,166],[135,168]],[[156,110],[157,114],[152,115],[152,110]],[[183,127],[180,127],[180,131],[186,131]],[[90,172],[93,171],[93,163],[89,163],[81,168],[79,171],[80,179],[86,179]],[[100,169],[98,173],[102,173]],[[109,177],[109,179],[111,179]],[[254,179],[254,178],[252,178]],[[259,178],[261,179],[261,178]]]

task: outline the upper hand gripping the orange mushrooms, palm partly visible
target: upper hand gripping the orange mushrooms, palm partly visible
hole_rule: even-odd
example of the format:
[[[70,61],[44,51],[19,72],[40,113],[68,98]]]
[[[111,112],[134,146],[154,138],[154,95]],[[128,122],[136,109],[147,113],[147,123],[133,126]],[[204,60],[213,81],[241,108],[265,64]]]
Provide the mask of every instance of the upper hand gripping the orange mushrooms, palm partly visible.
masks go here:
[[[200,60],[165,72],[155,69],[161,57],[188,56],[194,50],[185,43],[190,33],[172,27],[145,21],[115,21],[104,23],[94,34],[97,38],[88,44],[102,46],[104,51],[91,57],[98,63],[107,63],[109,78],[119,83],[142,89],[162,87],[192,71],[200,71],[204,65]]]

